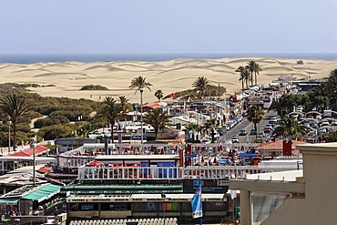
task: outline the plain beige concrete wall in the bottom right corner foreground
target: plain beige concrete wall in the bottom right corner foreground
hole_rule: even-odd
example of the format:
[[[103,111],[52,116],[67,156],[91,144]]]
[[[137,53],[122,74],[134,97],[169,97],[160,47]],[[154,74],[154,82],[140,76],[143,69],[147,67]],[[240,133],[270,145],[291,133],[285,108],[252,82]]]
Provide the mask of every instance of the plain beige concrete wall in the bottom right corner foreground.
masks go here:
[[[337,224],[337,143],[301,146],[305,199],[287,199],[262,225]]]

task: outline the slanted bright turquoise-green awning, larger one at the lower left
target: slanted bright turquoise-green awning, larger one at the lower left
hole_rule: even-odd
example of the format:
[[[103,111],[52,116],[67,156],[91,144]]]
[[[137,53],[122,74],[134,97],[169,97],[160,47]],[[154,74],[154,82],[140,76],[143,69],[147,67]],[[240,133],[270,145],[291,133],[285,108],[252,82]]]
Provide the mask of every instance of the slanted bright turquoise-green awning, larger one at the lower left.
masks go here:
[[[31,191],[30,193],[24,195],[22,198],[37,200],[37,202],[41,202],[45,199],[49,199],[54,195],[56,195],[61,188],[62,188],[61,186],[57,186],[54,184],[47,184],[39,189]]]

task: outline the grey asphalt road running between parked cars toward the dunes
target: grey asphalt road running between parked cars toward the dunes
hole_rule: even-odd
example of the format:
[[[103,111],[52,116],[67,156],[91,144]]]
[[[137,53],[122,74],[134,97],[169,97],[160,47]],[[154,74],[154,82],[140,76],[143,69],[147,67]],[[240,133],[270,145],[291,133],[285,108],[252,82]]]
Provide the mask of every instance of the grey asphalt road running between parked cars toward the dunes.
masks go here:
[[[262,132],[264,127],[268,124],[269,120],[272,117],[276,117],[277,112],[271,110],[268,112],[268,110],[265,110],[264,118],[260,121],[260,124],[257,124],[257,128],[259,132]],[[231,128],[229,131],[227,131],[223,136],[221,136],[220,141],[221,143],[225,143],[226,140],[229,140],[232,135],[239,135],[240,129],[246,129],[248,134],[246,136],[239,136],[240,143],[250,143],[253,141],[253,136],[250,135],[250,129],[253,128],[253,124],[250,123],[250,121],[247,119],[247,117],[244,117],[243,120],[237,124],[234,128]]]

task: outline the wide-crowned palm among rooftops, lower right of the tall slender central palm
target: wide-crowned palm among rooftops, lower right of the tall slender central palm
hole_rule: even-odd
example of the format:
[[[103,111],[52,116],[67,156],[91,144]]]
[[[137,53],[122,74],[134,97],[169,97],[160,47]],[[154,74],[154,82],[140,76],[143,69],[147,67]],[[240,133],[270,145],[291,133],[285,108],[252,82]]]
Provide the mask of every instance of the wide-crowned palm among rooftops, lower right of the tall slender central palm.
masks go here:
[[[155,140],[157,140],[159,129],[165,128],[168,124],[167,112],[160,112],[159,108],[152,109],[144,116],[144,122],[155,129]]]

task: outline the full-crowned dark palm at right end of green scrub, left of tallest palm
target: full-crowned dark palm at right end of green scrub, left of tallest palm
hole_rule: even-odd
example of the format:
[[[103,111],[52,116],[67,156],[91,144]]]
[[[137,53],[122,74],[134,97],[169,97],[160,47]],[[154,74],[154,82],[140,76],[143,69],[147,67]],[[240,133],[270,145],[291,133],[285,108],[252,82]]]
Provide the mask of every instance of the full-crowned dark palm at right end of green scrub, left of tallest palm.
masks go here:
[[[117,103],[117,101],[113,97],[105,97],[103,99],[104,107],[101,108],[98,115],[100,117],[107,118],[107,121],[111,125],[111,140],[114,143],[114,124],[120,115],[120,111],[122,110],[122,106]]]

